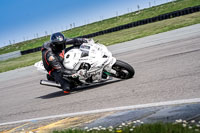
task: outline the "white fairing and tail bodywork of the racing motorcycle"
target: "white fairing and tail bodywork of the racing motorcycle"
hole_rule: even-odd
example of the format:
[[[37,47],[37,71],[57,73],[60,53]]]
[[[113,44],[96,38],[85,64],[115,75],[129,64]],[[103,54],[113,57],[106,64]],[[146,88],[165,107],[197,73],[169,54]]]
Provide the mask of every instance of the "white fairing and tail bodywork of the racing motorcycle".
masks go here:
[[[112,57],[112,53],[108,51],[106,46],[95,43],[91,39],[88,40],[88,43],[83,43],[79,49],[71,49],[65,53],[63,65],[66,69],[79,70],[80,72],[83,70],[80,70],[81,64],[89,64],[90,69],[86,73],[79,75],[79,80],[86,83],[85,80],[89,77],[92,77],[94,82],[101,81],[103,70],[115,73],[112,70],[115,62],[116,59]],[[37,65],[36,67],[42,67],[42,65]],[[44,67],[39,69],[44,70]]]

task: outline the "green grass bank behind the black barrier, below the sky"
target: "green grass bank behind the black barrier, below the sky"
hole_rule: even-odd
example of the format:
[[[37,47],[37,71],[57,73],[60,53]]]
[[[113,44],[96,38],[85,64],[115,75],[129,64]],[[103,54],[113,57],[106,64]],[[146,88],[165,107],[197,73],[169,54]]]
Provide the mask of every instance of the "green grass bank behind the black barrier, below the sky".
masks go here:
[[[97,31],[109,29],[115,26],[127,24],[130,22],[158,16],[160,14],[184,9],[187,7],[197,6],[197,5],[200,5],[200,0],[177,0],[175,2],[144,9],[144,10],[141,10],[140,12],[132,12],[132,13],[125,14],[119,17],[113,17],[113,18],[106,19],[103,21],[73,28],[72,30],[64,31],[63,33],[65,36],[70,37],[70,38],[81,36],[81,35],[87,35],[90,33],[97,32]],[[9,45],[9,46],[0,48],[0,54],[13,52],[16,50],[27,50],[27,49],[39,47],[47,40],[49,40],[49,36],[17,43],[15,45]]]

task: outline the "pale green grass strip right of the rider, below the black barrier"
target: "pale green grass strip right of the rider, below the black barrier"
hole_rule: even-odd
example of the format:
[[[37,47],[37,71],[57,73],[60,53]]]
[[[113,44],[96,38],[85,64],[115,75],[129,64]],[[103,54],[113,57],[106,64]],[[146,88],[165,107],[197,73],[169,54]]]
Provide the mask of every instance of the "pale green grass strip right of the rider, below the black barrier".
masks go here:
[[[111,45],[198,23],[200,23],[200,12],[104,34],[94,37],[94,40],[104,45]]]

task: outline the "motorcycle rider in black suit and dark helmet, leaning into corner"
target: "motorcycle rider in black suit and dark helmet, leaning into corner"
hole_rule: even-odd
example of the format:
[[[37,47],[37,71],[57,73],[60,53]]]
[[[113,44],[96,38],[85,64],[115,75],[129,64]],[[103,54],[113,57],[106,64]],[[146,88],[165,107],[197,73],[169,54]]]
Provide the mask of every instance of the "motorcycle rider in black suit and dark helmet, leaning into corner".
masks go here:
[[[51,35],[50,41],[45,42],[42,46],[42,61],[44,68],[48,71],[56,82],[61,84],[64,93],[70,93],[70,83],[63,78],[63,75],[76,75],[73,70],[66,70],[62,64],[64,54],[69,49],[65,49],[67,44],[73,44],[71,48],[78,47],[82,43],[87,42],[83,38],[65,38],[60,32]]]

